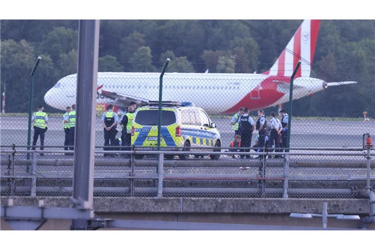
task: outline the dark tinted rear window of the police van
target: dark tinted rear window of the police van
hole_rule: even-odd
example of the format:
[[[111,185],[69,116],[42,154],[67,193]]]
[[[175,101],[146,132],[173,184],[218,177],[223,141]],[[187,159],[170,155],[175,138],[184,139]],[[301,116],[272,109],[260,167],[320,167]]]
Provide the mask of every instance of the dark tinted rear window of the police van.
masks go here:
[[[158,125],[158,110],[140,110],[135,116],[135,122],[140,125]],[[162,126],[176,123],[173,111],[162,110]]]

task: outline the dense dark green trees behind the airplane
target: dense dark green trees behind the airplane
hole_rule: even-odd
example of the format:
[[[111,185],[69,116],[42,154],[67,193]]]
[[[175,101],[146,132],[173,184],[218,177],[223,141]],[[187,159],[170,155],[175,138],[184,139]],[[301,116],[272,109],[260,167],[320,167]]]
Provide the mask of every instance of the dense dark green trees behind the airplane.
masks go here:
[[[286,45],[302,21],[248,22]],[[37,56],[42,62],[35,77],[35,105],[59,79],[76,73],[78,21],[2,20],[0,31],[0,83],[1,92],[6,85],[7,112],[27,112],[29,76]],[[168,72],[260,73],[283,50],[236,20],[102,20],[99,46],[102,72],[159,72],[169,57]],[[357,117],[366,110],[375,116],[375,106],[366,100],[375,102],[374,64],[375,21],[321,21],[313,65],[330,76],[312,70],[312,77],[358,83],[297,100],[293,111]]]

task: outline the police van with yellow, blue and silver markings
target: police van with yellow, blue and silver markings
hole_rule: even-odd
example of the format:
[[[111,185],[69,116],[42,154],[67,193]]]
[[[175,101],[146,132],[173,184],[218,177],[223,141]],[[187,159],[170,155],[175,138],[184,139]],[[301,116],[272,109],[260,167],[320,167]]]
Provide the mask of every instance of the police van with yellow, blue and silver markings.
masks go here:
[[[157,146],[158,110],[158,102],[149,102],[137,108],[131,130],[132,146]],[[160,146],[183,147],[180,150],[184,151],[189,151],[192,146],[221,147],[221,138],[216,125],[202,108],[192,103],[163,102]],[[209,156],[212,160],[220,157],[218,154]],[[137,158],[142,156],[138,155]],[[166,155],[166,158],[171,160],[174,155]],[[179,155],[179,158],[186,160],[189,155]]]

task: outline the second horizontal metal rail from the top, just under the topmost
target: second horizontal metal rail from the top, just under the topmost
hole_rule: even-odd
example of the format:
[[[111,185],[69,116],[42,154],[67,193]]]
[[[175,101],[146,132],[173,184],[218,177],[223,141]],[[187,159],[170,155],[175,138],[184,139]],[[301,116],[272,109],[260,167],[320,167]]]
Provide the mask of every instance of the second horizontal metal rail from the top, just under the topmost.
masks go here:
[[[2,150],[1,154],[8,154],[8,153],[44,153],[44,154],[52,154],[52,153],[68,153],[74,152],[69,150]],[[146,154],[146,155],[158,155],[158,154],[192,154],[192,155],[306,155],[306,156],[366,156],[365,153],[298,153],[298,152],[208,152],[208,151],[118,151],[118,150],[106,150],[106,151],[95,151],[95,154],[103,154],[103,153],[120,153],[120,154]],[[371,156],[375,156],[375,154],[370,154]]]

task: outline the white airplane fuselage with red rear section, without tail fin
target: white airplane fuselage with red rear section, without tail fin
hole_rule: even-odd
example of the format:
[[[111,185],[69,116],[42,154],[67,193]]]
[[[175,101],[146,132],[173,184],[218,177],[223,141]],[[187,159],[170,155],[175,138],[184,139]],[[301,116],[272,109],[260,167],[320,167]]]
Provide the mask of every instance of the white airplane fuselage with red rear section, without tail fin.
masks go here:
[[[159,99],[159,73],[99,72],[97,103],[115,102],[102,91],[146,100]],[[310,77],[294,80],[293,100],[324,89],[324,81]],[[240,106],[251,110],[289,101],[290,77],[263,74],[166,73],[163,100],[193,102],[206,112],[234,113]],[[44,96],[45,102],[58,109],[76,102],[77,74],[59,80]]]

